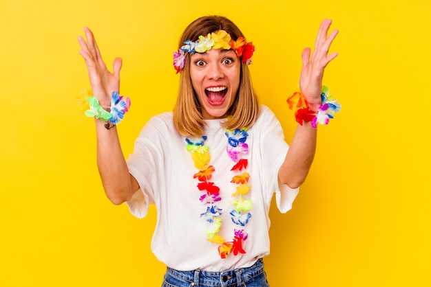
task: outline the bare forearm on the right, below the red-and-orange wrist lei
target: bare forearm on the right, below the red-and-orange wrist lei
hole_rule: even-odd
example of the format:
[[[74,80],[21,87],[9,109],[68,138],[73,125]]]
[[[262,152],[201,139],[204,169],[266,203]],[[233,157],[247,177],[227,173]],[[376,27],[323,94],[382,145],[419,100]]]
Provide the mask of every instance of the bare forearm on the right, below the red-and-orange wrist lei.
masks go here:
[[[288,149],[284,163],[278,172],[280,181],[291,188],[304,183],[315,156],[317,130],[310,122],[297,125],[295,135]]]

